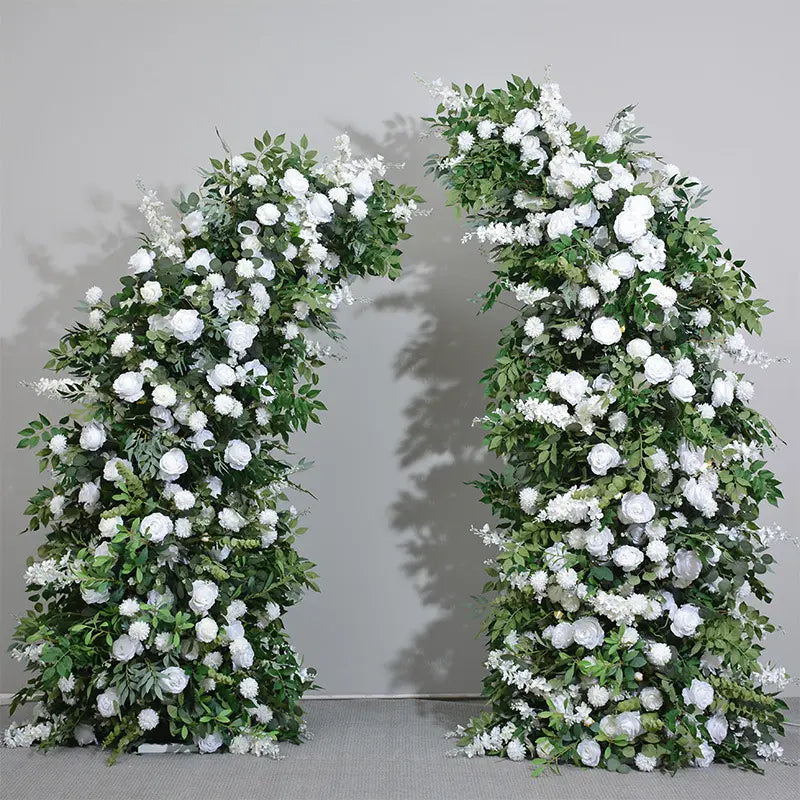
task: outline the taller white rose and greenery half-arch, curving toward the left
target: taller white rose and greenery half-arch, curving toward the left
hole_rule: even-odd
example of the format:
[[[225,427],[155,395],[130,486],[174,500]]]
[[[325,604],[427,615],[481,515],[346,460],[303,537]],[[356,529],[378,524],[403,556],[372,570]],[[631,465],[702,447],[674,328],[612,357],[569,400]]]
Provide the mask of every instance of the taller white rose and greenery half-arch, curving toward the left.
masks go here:
[[[778,757],[781,668],[752,602],[780,532],[778,482],[740,329],[768,312],[692,208],[705,191],[641,144],[632,109],[606,133],[570,122],[554,83],[430,86],[450,150],[431,168],[491,252],[483,310],[521,306],[484,382],[476,485],[500,521],[487,562],[491,710],[460,727],[468,756],[757,769]]]

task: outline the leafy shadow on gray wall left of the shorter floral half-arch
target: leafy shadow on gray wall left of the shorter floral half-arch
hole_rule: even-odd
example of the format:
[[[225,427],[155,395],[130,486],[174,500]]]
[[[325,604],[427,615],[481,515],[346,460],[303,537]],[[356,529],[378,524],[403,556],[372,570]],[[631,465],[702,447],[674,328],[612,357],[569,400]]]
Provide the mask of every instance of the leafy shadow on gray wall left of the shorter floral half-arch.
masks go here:
[[[175,196],[163,187],[159,195]],[[131,197],[136,197],[133,185]],[[22,579],[25,560],[44,540],[42,532],[26,533],[22,537],[15,534],[25,527],[23,512],[27,498],[47,481],[46,476],[39,474],[31,452],[15,450],[16,432],[39,412],[56,420],[70,408],[67,402],[37,397],[21,382],[54,377],[54,373],[43,369],[49,357],[48,350],[58,344],[67,325],[85,319],[85,314],[76,311],[75,306],[83,300],[88,287],[98,285],[106,296],[117,290],[128,258],[138,246],[135,233],[145,227],[136,204],[120,205],[101,190],[89,193],[86,218],[85,227],[62,234],[50,233],[47,244],[18,239],[22,263],[15,268],[26,272],[24,281],[33,285],[39,300],[3,337],[2,447],[6,469],[0,582],[4,612],[1,634],[6,644],[10,641],[16,616],[28,607]],[[69,253],[69,263],[63,263],[65,252]],[[7,654],[3,659],[3,691],[16,691],[25,682],[23,667]]]

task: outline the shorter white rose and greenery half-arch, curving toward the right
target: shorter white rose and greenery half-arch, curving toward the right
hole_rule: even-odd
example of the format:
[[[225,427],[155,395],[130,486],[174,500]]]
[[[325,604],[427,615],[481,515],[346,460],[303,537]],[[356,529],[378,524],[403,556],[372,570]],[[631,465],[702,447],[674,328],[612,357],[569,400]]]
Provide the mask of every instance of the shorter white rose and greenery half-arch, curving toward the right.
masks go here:
[[[286,490],[293,431],[319,422],[317,369],[354,276],[400,272],[397,244],[420,198],[380,157],[335,160],[255,140],[211,160],[177,229],[145,192],[151,234],[107,302],[86,293],[40,392],[76,409],[21,431],[52,488],[30,500],[47,540],[25,574],[35,604],[12,654],[33,672],[9,746],[142,743],[277,756],[304,731],[313,686],[281,615],[314,565]]]

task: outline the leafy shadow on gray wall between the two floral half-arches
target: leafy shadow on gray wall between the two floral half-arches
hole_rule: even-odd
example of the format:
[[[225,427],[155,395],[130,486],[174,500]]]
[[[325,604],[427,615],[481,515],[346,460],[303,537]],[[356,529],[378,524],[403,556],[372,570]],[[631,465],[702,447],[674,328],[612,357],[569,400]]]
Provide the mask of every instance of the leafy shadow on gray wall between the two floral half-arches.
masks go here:
[[[392,504],[390,524],[404,554],[403,569],[432,619],[388,665],[391,682],[404,692],[476,693],[485,652],[477,637],[483,612],[474,597],[485,580],[483,562],[493,553],[470,533],[471,525],[482,525],[490,515],[477,489],[465,483],[495,463],[472,421],[485,411],[479,380],[495,357],[498,328],[506,319],[476,317],[478,306],[469,302],[485,289],[491,267],[477,248],[461,244],[463,220],[424,175],[427,156],[441,146],[423,138],[427,126],[398,115],[384,123],[380,141],[346,125],[338,128],[350,132],[359,152],[405,163],[391,179],[419,187],[432,210],[409,226],[413,237],[402,243],[403,277],[361,312],[407,310],[422,317],[394,364],[398,381],[411,378],[422,388],[404,411],[397,459],[410,486]]]

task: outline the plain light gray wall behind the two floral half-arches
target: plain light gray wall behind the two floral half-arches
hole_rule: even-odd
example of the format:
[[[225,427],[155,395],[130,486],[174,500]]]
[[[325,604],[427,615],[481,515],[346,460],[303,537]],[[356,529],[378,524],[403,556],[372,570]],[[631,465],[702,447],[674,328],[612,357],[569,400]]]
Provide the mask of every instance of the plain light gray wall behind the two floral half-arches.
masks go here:
[[[116,285],[136,232],[134,180],[163,196],[196,183],[217,154],[269,127],[325,151],[348,130],[365,151],[406,161],[433,214],[414,225],[406,275],[360,287],[344,312],[349,360],[324,375],[330,412],[298,450],[316,459],[319,497],[302,549],[324,594],[290,617],[298,647],[334,693],[467,692],[482,645],[471,595],[487,557],[468,533],[485,520],[477,387],[503,312],[467,302],[488,268],[422,176],[434,146],[416,121],[432,110],[418,72],[497,85],[553,66],[576,119],[599,129],[638,101],[653,146],[714,187],[708,213],[771,298],[763,347],[798,357],[796,147],[800,19],[788,2],[686,2],[658,10],[607,3],[6,2],[2,19],[3,531],[2,639],[25,607],[19,537],[36,466],[14,452],[39,376],[87,286]],[[653,10],[651,10],[653,9]],[[796,373],[758,373],[758,406],[788,442],[773,464],[798,518]],[[776,548],[769,655],[800,672],[798,550]],[[22,680],[3,656],[1,691]],[[796,687],[793,687],[796,690]],[[792,690],[790,690],[792,693]],[[796,691],[794,691],[796,693]]]

